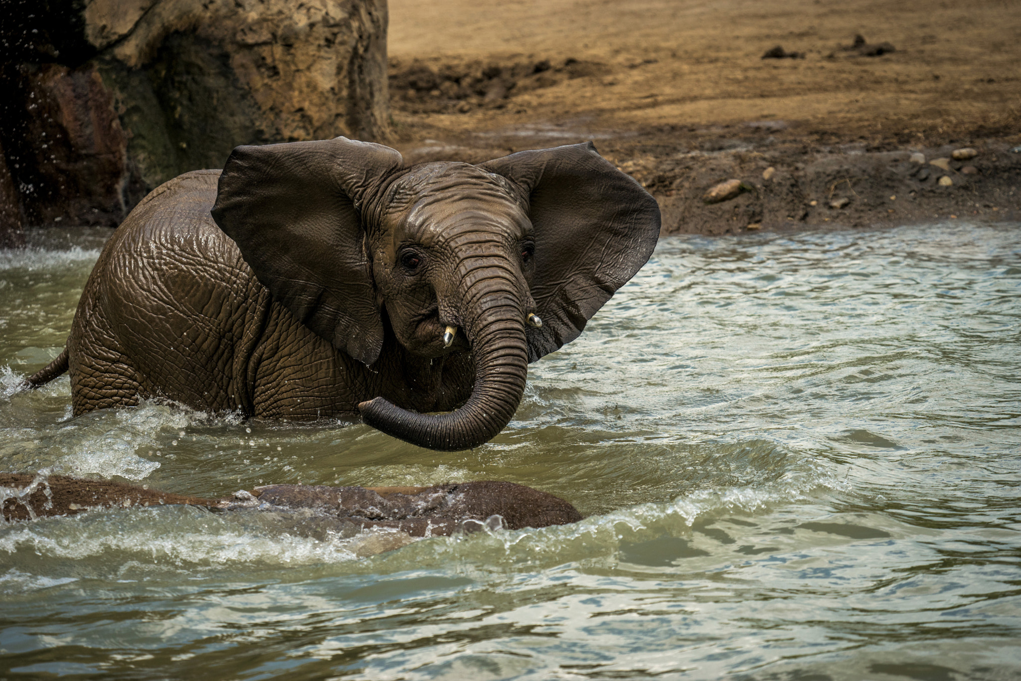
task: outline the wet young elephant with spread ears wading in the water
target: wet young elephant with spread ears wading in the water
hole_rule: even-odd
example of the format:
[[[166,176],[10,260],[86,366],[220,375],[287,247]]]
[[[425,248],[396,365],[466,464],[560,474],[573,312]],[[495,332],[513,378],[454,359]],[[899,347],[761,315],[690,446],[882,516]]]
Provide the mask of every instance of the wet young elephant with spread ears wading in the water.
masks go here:
[[[364,423],[433,449],[514,416],[527,366],[648,259],[655,200],[589,144],[406,167],[345,138],[238,147],[106,244],[64,352],[76,415],[163,397]],[[447,414],[428,416],[429,411]]]

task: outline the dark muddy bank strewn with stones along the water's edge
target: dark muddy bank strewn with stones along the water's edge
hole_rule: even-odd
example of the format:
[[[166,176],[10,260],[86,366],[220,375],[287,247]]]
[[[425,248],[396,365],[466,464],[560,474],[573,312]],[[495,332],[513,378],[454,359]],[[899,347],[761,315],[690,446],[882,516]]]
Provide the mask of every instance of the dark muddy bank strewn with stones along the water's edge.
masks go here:
[[[1021,220],[1021,149],[966,149],[698,151],[622,168],[660,202],[664,234]],[[714,200],[728,181],[736,191]]]

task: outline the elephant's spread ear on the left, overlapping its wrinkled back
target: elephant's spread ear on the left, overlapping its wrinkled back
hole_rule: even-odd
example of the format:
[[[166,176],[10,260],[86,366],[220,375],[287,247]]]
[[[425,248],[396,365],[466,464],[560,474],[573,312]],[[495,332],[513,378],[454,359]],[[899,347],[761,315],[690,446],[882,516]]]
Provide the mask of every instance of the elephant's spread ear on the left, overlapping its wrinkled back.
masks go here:
[[[343,137],[237,147],[212,207],[273,297],[366,364],[383,321],[360,208],[400,165],[395,149]]]

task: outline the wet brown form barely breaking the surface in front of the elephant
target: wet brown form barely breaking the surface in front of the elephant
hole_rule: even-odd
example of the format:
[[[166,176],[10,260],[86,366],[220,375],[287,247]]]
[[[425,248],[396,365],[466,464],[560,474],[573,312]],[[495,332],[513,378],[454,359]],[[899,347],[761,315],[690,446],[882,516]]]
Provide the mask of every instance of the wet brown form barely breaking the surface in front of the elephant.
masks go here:
[[[412,537],[473,532],[499,516],[508,530],[581,520],[567,501],[508,482],[451,483],[432,487],[326,487],[269,485],[225,499],[203,499],[111,481],[0,473],[4,521],[74,516],[86,510],[186,504],[209,509],[308,509],[339,521],[347,534],[386,528]]]

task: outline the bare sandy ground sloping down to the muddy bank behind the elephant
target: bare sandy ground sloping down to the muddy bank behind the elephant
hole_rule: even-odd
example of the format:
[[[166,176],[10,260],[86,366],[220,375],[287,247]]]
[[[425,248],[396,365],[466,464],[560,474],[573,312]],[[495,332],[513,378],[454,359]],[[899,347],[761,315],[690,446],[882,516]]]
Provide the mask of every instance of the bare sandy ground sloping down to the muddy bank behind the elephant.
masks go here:
[[[844,49],[859,34],[895,51]],[[804,56],[762,58],[777,45]],[[1021,201],[1016,0],[390,0],[389,54],[406,155],[592,139],[667,232],[1001,217]],[[971,175],[918,181],[908,161],[963,146],[980,152]],[[698,200],[731,178],[749,188],[737,203]]]

